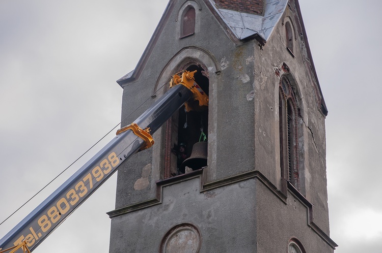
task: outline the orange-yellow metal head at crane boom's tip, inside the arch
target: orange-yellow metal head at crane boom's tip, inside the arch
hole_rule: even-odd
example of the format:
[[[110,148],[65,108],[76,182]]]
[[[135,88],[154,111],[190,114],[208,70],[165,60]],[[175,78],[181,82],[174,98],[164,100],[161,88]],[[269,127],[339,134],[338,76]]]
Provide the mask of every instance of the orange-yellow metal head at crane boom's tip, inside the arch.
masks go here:
[[[194,93],[193,100],[199,101],[198,105],[192,103],[185,103],[186,110],[200,110],[203,106],[208,106],[208,96],[202,88],[195,82],[194,75],[197,71],[184,71],[181,76],[174,75],[170,81],[170,88],[182,84]]]

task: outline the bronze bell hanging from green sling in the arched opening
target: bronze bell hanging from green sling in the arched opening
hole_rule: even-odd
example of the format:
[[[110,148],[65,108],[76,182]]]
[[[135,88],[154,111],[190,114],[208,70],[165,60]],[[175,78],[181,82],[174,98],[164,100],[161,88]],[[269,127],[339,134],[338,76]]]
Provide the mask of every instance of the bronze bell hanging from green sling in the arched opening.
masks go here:
[[[200,141],[194,144],[191,156],[184,160],[180,166],[182,173],[185,172],[186,166],[193,170],[199,170],[207,166],[207,142]]]

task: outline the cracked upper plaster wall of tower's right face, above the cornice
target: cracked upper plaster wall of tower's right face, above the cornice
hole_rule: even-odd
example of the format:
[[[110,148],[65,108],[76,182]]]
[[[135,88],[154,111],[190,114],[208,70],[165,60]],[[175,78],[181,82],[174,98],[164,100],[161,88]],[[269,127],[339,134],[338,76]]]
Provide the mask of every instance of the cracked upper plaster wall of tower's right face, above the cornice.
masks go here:
[[[319,108],[319,94],[315,92],[313,77],[305,44],[298,36],[296,13],[287,8],[283,17],[290,16],[296,27],[294,56],[286,49],[285,27],[279,22],[266,45],[255,47],[255,168],[272,183],[282,188],[279,150],[279,82],[280,76],[294,78],[295,88],[301,97],[302,143],[299,143],[300,192],[314,205],[314,222],[329,235],[328,193],[326,189],[325,116]],[[289,67],[289,73],[282,65]]]

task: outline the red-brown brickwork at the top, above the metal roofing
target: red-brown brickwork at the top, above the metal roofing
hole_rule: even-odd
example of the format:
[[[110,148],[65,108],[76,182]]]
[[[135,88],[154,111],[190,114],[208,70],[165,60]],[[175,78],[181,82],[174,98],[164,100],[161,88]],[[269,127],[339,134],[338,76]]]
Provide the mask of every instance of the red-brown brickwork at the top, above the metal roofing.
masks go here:
[[[216,7],[239,12],[264,15],[265,0],[215,0]]]

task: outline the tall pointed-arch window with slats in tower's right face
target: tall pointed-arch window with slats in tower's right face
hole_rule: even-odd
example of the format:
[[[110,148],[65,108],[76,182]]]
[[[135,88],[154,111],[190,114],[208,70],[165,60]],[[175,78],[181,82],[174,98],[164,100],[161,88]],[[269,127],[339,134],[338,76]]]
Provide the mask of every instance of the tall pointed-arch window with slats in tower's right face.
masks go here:
[[[279,129],[281,177],[299,189],[297,101],[288,78],[279,85]]]

